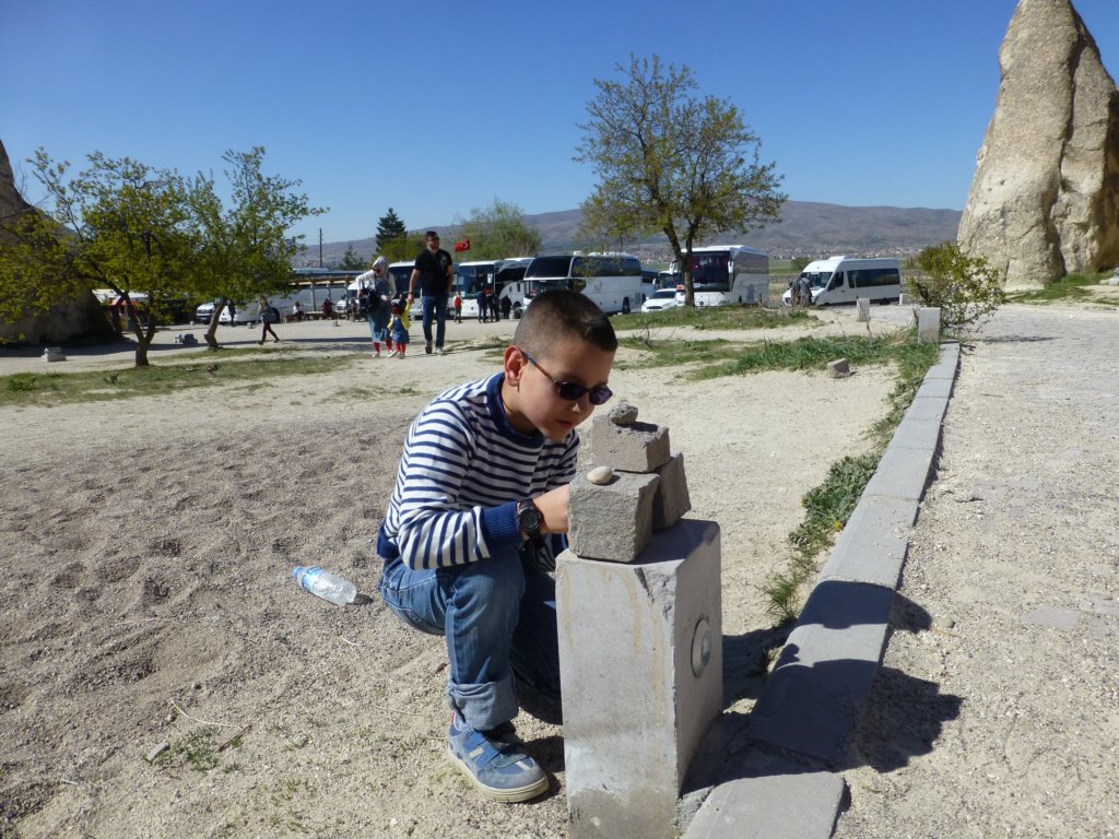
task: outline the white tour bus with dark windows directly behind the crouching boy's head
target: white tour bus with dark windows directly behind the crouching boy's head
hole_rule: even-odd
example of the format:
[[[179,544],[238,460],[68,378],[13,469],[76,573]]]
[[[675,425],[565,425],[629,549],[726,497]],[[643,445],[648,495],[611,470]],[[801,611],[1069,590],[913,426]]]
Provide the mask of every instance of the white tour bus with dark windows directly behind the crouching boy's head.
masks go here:
[[[582,292],[606,314],[629,314],[641,305],[641,263],[630,254],[555,254],[534,258],[525,279],[508,283],[500,296],[511,301],[514,318],[548,289]]]

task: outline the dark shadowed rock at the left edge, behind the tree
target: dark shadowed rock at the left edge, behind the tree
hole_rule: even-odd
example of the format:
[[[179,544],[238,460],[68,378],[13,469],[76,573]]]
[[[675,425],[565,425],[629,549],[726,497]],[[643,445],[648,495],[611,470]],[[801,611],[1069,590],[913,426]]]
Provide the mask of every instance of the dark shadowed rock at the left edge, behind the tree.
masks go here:
[[[0,142],[0,247],[12,243],[3,223],[23,213],[38,213],[16,188],[8,151]],[[110,340],[120,336],[112,329],[92,292],[83,292],[40,314],[28,314],[13,323],[0,321],[0,345],[62,343],[73,340]]]

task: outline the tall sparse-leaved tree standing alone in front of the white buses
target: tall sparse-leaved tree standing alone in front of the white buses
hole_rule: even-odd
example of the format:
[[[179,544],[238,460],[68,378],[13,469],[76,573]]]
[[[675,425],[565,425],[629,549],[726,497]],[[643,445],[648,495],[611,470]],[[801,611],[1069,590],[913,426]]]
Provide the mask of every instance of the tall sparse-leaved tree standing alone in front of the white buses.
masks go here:
[[[575,160],[599,179],[582,206],[580,236],[609,247],[664,233],[694,305],[693,246],[779,220],[781,178],[775,163],[760,162],[761,141],[734,104],[694,95],[686,65],[631,55],[617,70],[621,81],[594,81],[590,120],[579,126]]]

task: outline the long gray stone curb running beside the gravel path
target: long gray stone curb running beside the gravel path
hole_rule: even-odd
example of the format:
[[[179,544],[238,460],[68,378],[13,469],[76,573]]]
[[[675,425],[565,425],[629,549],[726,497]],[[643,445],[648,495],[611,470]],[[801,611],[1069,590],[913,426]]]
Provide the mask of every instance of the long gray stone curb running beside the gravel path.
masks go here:
[[[959,360],[941,345],[685,839],[831,836]]]

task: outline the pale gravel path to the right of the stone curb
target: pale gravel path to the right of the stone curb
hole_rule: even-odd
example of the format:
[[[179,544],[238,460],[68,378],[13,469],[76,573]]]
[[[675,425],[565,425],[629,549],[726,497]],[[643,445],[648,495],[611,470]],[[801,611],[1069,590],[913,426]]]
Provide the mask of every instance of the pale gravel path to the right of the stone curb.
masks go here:
[[[1117,328],[965,348],[837,839],[1119,837]]]

